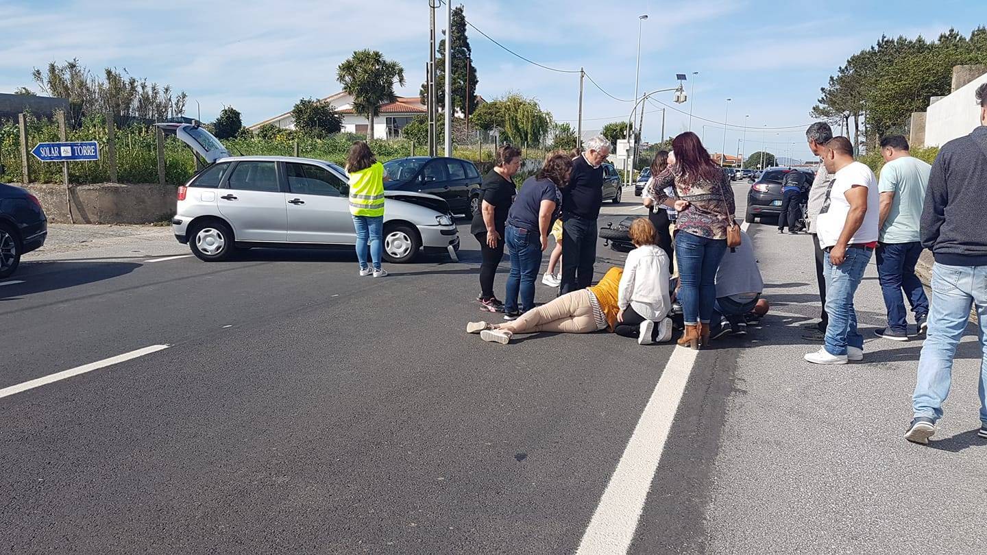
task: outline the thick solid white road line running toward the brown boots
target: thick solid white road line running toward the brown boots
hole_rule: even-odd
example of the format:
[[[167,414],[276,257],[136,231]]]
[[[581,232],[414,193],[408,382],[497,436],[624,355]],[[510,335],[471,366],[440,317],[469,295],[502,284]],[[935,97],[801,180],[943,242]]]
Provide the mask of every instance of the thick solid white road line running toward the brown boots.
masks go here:
[[[696,351],[677,347],[665,364],[645,412],[582,535],[577,554],[626,553],[631,546],[696,355]]]

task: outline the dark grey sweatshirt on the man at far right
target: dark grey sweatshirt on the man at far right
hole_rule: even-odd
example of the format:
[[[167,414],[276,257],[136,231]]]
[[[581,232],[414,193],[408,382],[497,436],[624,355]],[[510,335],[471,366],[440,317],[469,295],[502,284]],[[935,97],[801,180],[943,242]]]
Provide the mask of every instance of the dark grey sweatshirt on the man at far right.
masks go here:
[[[922,246],[947,266],[987,266],[987,125],[943,145],[922,211]]]

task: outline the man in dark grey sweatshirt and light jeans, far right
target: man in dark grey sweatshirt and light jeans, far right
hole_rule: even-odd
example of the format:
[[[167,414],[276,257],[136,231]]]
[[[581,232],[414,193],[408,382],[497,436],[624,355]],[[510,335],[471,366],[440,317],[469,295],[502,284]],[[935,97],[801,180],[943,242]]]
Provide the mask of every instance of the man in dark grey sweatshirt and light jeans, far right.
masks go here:
[[[987,83],[976,91],[981,125],[943,145],[929,175],[922,212],[922,246],[936,258],[929,331],[919,357],[912,396],[914,419],[905,438],[928,443],[943,417],[952,357],[969,323],[979,315],[985,354],[980,366],[980,432],[987,438]]]

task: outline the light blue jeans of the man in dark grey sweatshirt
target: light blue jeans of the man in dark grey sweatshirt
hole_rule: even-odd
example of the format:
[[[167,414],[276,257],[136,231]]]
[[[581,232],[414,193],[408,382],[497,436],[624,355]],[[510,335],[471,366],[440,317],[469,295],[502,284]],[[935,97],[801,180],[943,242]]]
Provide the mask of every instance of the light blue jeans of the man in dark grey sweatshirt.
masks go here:
[[[952,357],[969,324],[970,308],[976,306],[980,326],[977,337],[984,354],[980,362],[980,422],[987,424],[987,267],[945,266],[937,263],[932,272],[932,310],[929,332],[919,357],[918,380],[912,395],[915,416],[939,420],[949,395]]]

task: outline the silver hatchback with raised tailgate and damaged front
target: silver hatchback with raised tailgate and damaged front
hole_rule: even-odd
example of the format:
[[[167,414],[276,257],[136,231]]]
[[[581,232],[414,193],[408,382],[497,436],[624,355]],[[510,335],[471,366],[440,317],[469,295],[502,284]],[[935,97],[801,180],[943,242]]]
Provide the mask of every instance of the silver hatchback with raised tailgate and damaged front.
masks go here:
[[[356,244],[348,179],[331,162],[289,156],[231,157],[219,139],[189,123],[158,123],[208,166],[179,188],[172,230],[203,261],[238,248],[342,247]],[[457,260],[459,234],[442,198],[387,192],[384,259],[407,263],[419,252]]]

